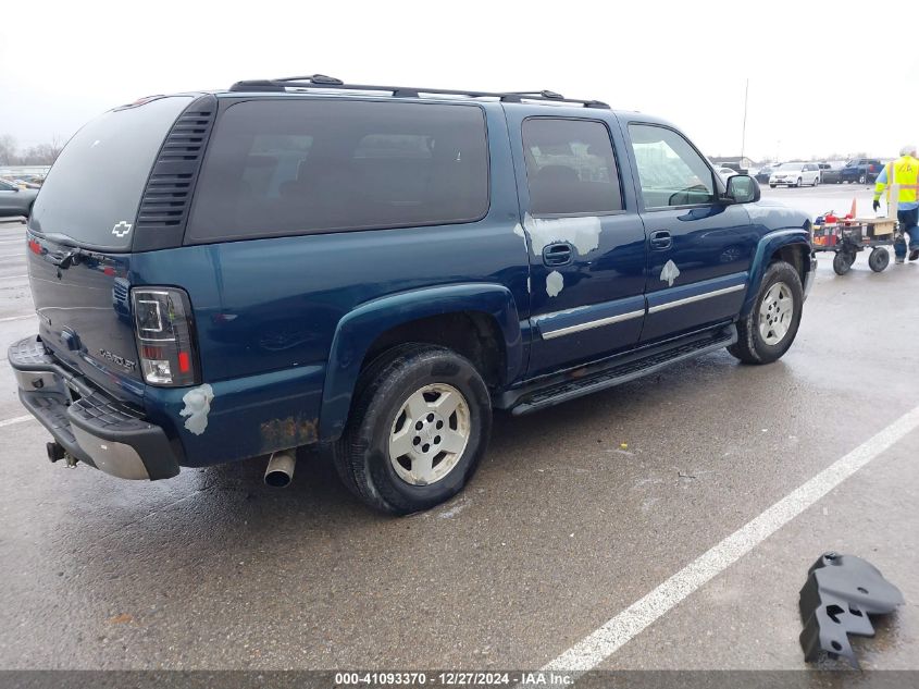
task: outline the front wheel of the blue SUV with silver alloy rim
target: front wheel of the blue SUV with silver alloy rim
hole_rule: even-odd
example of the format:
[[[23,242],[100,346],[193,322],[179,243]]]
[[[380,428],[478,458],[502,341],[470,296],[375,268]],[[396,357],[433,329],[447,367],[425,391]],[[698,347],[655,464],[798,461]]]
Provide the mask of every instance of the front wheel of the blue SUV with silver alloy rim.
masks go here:
[[[795,341],[803,307],[798,272],[785,261],[771,263],[753,309],[737,323],[737,342],[728,352],[744,364],[775,361]]]

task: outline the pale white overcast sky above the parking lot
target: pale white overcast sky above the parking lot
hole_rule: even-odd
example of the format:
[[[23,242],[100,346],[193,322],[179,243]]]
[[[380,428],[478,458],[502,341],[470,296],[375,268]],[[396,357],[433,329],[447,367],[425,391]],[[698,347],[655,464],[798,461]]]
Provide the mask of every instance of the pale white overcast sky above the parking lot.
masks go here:
[[[0,23],[0,134],[21,146],[65,139],[141,96],[319,72],[549,88],[669,119],[708,155],[729,156],[741,150],[749,79],[753,158],[895,156],[919,140],[917,19],[912,2],[809,0],[12,0]]]

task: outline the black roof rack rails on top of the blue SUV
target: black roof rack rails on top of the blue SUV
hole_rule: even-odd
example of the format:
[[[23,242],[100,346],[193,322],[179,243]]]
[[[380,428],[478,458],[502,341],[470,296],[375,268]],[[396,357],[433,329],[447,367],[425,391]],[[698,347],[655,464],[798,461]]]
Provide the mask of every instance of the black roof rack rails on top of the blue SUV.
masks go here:
[[[333,88],[341,90],[359,91],[388,91],[395,98],[420,98],[422,94],[432,96],[469,96],[470,98],[496,98],[501,102],[522,102],[524,100],[548,100],[552,102],[576,103],[585,108],[605,108],[609,106],[599,100],[579,100],[566,98],[561,94],[550,90],[533,91],[469,91],[454,90],[449,88],[420,88],[412,86],[370,86],[367,84],[345,84],[341,79],[325,74],[311,74],[309,76],[287,76],[277,79],[250,79],[236,82],[229,87],[232,91],[284,91],[288,88]]]

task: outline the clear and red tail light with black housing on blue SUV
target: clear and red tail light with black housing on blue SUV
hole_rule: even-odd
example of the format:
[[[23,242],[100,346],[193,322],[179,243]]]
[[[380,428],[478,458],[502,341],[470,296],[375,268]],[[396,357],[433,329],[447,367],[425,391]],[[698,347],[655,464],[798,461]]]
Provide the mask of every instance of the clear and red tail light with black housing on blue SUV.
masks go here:
[[[141,287],[132,290],[131,297],[144,380],[164,387],[199,383],[188,295],[175,287]]]

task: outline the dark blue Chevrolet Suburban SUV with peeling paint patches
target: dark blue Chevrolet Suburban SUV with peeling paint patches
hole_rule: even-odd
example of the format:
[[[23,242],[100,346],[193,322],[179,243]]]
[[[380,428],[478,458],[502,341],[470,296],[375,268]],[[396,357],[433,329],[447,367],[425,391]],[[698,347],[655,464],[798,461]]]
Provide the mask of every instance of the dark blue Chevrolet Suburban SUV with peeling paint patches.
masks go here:
[[[322,75],[82,128],[27,229],[13,344],[48,456],[127,479],[332,448],[395,514],[456,494],[494,410],[791,346],[808,219],[674,126],[551,91]]]

